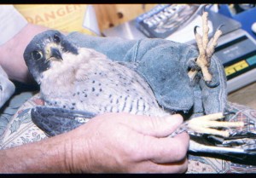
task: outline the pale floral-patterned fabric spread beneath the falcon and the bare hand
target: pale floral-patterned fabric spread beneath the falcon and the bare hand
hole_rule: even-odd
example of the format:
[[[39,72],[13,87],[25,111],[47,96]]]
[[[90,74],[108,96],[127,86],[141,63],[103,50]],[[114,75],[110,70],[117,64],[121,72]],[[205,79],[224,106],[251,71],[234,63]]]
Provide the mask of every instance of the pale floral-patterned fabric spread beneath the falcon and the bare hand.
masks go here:
[[[31,108],[38,105],[44,105],[44,101],[40,100],[39,95],[34,95],[20,106],[20,109],[8,124],[5,133],[0,138],[0,149],[47,139],[47,135],[32,123],[30,117]],[[228,120],[243,120],[246,123],[256,123],[256,110],[234,103],[228,103],[228,109],[236,112],[236,115],[227,118]],[[255,132],[255,124],[254,127],[252,124],[248,124],[247,130],[252,133]],[[247,156],[247,158],[234,156],[233,160],[230,160],[232,160],[232,157],[227,158],[226,155],[223,158],[219,158],[219,156],[217,158],[216,155],[202,156],[189,153],[189,169],[187,173],[256,173],[255,156]]]

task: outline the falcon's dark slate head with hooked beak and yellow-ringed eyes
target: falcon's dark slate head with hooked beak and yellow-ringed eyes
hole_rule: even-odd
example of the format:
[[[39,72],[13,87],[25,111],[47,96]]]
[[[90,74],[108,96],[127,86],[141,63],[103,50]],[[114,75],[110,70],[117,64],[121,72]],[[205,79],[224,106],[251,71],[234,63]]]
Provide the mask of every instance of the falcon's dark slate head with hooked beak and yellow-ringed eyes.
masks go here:
[[[78,55],[78,48],[61,32],[49,30],[32,38],[23,57],[32,77],[40,84],[42,73],[50,68],[53,60],[63,60],[63,53]]]

